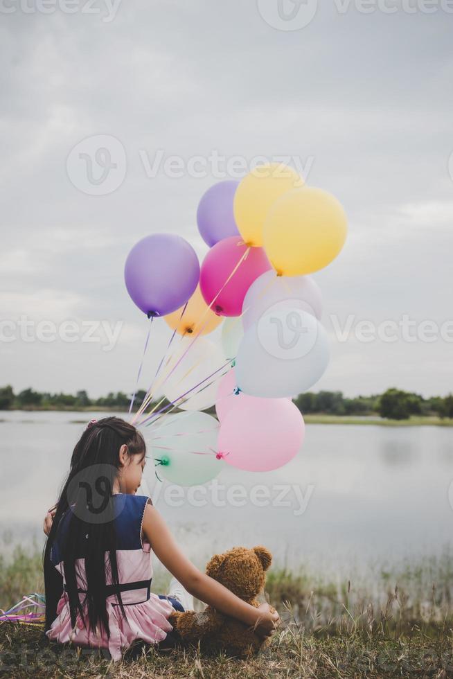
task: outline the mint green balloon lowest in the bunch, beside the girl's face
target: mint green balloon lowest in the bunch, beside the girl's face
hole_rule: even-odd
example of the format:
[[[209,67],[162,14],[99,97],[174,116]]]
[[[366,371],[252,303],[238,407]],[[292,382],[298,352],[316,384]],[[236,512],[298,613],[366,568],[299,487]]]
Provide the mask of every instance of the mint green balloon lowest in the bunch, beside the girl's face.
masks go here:
[[[164,416],[152,431],[150,448],[159,477],[179,486],[198,486],[211,481],[225,465],[217,459],[219,423],[204,412],[180,412]]]

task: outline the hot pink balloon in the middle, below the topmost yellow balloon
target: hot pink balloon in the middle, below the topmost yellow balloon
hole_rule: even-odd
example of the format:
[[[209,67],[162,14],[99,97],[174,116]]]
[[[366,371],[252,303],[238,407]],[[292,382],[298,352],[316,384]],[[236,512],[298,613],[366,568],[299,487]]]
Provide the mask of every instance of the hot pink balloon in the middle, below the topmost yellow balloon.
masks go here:
[[[238,236],[224,238],[211,247],[202,263],[199,287],[204,301],[210,305],[215,299],[211,308],[219,316],[240,316],[250,285],[270,268],[262,247],[248,248]]]

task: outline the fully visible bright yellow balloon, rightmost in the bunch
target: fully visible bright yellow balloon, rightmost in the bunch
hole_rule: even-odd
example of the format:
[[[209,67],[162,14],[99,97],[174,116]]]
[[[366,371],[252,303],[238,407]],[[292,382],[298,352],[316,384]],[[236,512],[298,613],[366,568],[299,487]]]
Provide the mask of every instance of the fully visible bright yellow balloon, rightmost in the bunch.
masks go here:
[[[335,259],[346,240],[346,213],[321,188],[295,188],[274,203],[264,228],[264,248],[281,276],[305,276]]]

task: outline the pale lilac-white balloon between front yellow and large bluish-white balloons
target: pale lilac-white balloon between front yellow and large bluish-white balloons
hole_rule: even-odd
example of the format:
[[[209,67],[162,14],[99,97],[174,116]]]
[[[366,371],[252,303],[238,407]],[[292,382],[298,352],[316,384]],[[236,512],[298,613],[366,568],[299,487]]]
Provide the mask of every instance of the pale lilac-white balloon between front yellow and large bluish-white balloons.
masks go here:
[[[281,308],[302,309],[321,320],[322,294],[312,276],[276,276],[267,271],[254,281],[242,304],[242,323],[248,330],[269,308],[281,303]]]

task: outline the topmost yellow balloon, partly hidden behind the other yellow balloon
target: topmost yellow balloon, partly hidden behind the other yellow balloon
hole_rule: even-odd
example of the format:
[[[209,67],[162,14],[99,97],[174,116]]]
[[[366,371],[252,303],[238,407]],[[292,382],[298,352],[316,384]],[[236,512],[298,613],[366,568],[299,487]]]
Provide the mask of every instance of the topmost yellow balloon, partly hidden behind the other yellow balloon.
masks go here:
[[[234,195],[233,209],[244,243],[263,245],[264,222],[272,204],[303,183],[301,175],[281,163],[260,165],[242,179]]]

